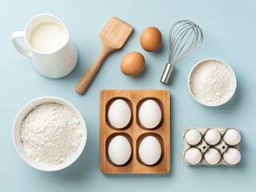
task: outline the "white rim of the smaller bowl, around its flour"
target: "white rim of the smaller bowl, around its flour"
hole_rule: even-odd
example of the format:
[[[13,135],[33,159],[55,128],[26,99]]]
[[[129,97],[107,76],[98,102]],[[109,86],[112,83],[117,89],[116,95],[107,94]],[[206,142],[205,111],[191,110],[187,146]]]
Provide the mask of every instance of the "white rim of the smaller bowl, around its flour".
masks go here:
[[[221,63],[222,65],[226,66],[226,68],[228,70],[230,70],[230,74],[231,74],[231,78],[232,78],[232,81],[233,81],[233,87],[232,87],[232,90],[230,92],[230,94],[228,95],[228,97],[221,101],[221,102],[218,102],[218,103],[214,103],[214,104],[210,104],[210,103],[205,103],[205,102],[201,102],[192,92],[191,90],[191,87],[190,87],[190,78],[191,78],[191,75],[193,74],[193,70],[196,69],[197,66],[199,65],[203,65],[204,62],[208,62],[208,61],[215,61],[215,62],[218,62],[218,63]],[[201,105],[204,105],[204,106],[221,106],[223,104],[225,104],[226,102],[230,101],[230,98],[233,97],[234,93],[235,93],[235,90],[237,88],[237,78],[236,78],[236,75],[234,74],[234,70],[232,70],[232,68],[226,63],[226,62],[223,62],[221,61],[220,59],[217,59],[217,58],[206,58],[204,60],[201,60],[200,62],[197,62],[197,64],[195,66],[193,66],[192,70],[190,70],[190,73],[189,73],[189,78],[188,78],[188,85],[189,85],[189,92],[190,94],[192,95],[192,97],[197,101],[199,102]]]

